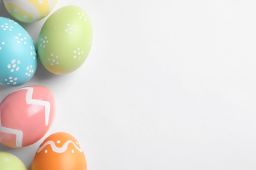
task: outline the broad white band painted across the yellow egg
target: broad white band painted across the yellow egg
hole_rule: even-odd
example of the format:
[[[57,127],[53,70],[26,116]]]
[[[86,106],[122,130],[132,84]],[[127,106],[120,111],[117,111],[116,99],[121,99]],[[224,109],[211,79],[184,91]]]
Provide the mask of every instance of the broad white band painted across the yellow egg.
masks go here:
[[[4,0],[4,2],[12,3],[14,5],[17,5],[21,9],[26,10],[27,12],[29,12],[32,15],[33,21],[39,20],[39,18],[40,18],[39,10],[37,10],[37,8],[35,8],[35,6],[33,6],[33,4],[28,1]]]

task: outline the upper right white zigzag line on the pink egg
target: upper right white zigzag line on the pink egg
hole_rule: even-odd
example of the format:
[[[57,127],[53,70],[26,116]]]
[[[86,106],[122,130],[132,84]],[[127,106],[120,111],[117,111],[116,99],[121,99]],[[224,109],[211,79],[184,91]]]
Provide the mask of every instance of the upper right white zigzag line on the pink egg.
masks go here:
[[[51,107],[50,102],[32,99],[33,88],[27,87],[27,88],[21,88],[20,90],[28,90],[26,94],[26,102],[28,105],[41,105],[45,107],[45,126],[48,126],[49,118],[50,118],[50,107]]]

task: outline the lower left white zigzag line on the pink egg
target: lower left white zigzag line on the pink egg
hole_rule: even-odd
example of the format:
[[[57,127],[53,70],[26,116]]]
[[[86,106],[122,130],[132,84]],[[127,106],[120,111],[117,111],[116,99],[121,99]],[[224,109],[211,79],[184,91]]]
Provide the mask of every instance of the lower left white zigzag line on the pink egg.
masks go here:
[[[0,112],[0,131],[3,133],[11,133],[16,135],[16,146],[22,147],[23,132],[18,129],[3,127],[1,123],[1,112]]]

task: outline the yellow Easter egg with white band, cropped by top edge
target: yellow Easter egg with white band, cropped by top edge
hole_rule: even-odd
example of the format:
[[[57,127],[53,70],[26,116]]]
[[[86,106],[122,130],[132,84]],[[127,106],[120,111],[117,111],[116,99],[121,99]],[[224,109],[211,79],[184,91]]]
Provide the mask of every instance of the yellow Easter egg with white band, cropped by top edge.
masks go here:
[[[35,22],[45,18],[56,5],[57,0],[3,0],[7,11],[21,22]]]

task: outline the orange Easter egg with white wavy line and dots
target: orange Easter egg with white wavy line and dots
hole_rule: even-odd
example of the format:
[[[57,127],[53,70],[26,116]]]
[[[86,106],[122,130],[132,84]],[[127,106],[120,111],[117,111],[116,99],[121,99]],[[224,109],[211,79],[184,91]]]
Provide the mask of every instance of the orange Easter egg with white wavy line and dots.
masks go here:
[[[65,132],[56,132],[39,146],[32,170],[86,170],[85,154],[77,140]]]

